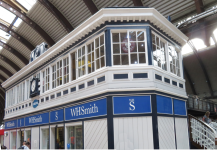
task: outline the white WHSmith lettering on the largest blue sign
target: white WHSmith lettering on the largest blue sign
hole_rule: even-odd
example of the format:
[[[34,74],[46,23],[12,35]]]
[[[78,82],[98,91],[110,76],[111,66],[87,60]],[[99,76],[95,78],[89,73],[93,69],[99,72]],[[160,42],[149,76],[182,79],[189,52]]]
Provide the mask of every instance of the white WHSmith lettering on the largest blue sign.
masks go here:
[[[93,106],[90,105],[89,108],[84,108],[84,106],[81,106],[81,107],[75,107],[70,110],[71,110],[72,117],[74,117],[74,116],[83,116],[83,115],[97,113],[98,107],[96,106],[96,104],[94,104]]]

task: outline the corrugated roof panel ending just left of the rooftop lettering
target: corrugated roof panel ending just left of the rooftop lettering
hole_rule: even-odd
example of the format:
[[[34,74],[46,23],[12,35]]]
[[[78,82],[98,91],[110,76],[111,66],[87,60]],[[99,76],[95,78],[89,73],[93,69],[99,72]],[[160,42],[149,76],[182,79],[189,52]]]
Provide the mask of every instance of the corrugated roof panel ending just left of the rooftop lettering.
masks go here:
[[[16,49],[18,52],[20,52],[21,54],[23,54],[23,56],[25,56],[27,59],[29,59],[30,57],[30,53],[31,51],[24,46],[23,44],[21,44],[17,39],[11,37],[7,43],[13,47],[14,49]]]

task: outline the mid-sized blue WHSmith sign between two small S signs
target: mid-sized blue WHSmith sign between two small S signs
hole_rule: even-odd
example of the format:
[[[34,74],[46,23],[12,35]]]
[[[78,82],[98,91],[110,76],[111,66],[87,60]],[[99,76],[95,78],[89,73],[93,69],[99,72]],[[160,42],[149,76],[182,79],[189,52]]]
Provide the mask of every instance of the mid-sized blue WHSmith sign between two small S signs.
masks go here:
[[[43,113],[25,118],[25,126],[49,123],[49,113]]]

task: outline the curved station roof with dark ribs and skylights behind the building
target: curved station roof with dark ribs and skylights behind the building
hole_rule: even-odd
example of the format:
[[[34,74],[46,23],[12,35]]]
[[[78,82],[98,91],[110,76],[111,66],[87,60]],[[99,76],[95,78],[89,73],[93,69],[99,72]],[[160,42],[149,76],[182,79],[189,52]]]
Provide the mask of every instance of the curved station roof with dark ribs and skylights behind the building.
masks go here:
[[[0,82],[3,83],[25,67],[29,62],[31,51],[37,45],[46,42],[49,47],[52,47],[102,8],[147,6],[155,8],[165,17],[170,16],[171,21],[177,25],[186,18],[209,10],[216,5],[215,0],[179,0],[175,2],[171,0],[0,0]],[[193,36],[188,31],[189,28],[182,28],[181,31],[190,38],[197,36],[195,34]],[[215,48],[214,45],[213,49]],[[214,85],[216,74],[213,71],[216,61],[214,53],[215,50],[207,50],[198,54],[201,62],[204,62],[202,66],[208,67],[207,75],[204,74],[203,67],[201,71],[201,63],[197,55],[192,54],[184,57],[185,76],[189,77],[186,79],[188,93],[201,94],[205,92],[207,97],[215,97],[217,89]],[[212,59],[210,59],[211,56]],[[196,60],[193,61],[194,59]],[[203,76],[196,78],[193,75],[197,75],[196,72]],[[211,89],[214,91],[213,94],[210,92],[212,91],[210,85],[207,82],[203,83],[203,80],[207,81],[207,77],[210,80]],[[191,88],[192,81],[196,85],[194,89]],[[204,89],[201,88],[202,86]],[[0,88],[0,111],[2,112],[0,114],[4,114],[4,92],[4,89]],[[0,122],[2,120],[3,116],[0,116]]]

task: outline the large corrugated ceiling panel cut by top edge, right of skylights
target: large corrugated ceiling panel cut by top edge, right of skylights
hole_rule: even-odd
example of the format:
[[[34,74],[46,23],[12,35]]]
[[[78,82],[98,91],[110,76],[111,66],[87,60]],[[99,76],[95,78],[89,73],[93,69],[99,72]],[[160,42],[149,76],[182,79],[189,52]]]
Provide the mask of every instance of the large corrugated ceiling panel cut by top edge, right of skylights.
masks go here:
[[[74,28],[76,28],[78,25],[80,25],[91,16],[91,12],[83,1],[49,1],[69,20],[69,22]],[[85,15],[83,15],[84,13]],[[82,16],[82,18],[77,19],[79,16]]]

